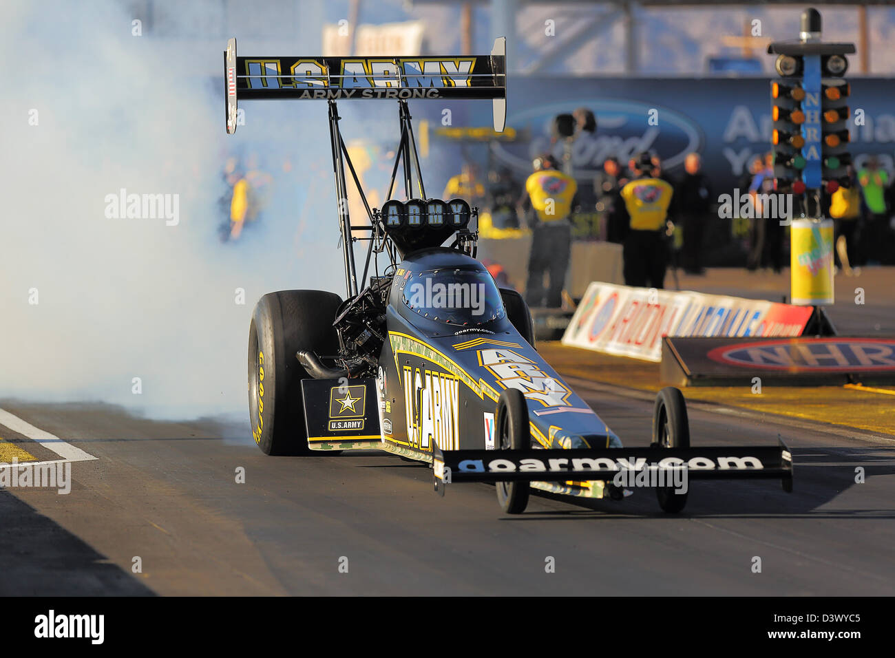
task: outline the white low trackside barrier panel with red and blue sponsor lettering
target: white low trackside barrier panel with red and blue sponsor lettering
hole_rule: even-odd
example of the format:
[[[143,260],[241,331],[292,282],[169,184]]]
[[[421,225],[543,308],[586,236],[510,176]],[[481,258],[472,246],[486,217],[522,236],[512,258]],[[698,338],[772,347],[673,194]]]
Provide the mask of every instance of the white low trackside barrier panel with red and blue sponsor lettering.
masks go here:
[[[811,312],[785,303],[594,282],[562,342],[658,363],[664,336],[796,337]]]

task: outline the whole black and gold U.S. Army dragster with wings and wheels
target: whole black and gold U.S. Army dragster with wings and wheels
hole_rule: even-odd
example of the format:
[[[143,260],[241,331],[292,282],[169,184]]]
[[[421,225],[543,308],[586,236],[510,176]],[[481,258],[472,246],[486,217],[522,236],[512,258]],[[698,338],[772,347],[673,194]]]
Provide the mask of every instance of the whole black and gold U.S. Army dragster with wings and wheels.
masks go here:
[[[358,89],[419,90],[420,76],[432,73],[425,89],[437,93],[423,98],[492,98],[501,131],[504,53],[499,38],[490,56],[428,59],[441,63],[438,71],[433,65],[426,71],[419,60],[422,73],[413,77],[407,73],[413,66],[388,57],[357,59],[353,69],[348,60],[317,57],[237,58],[232,39],[225,55],[228,132],[237,97],[327,100],[336,198],[344,199],[354,167],[337,99],[366,98],[355,95]],[[346,70],[356,79],[335,73]],[[621,500],[613,480],[633,467],[631,456],[636,465],[689,468],[694,477],[791,482],[791,457],[782,446],[691,449],[677,389],[661,392],[650,447],[622,450],[618,436],[534,348],[522,296],[499,289],[475,258],[477,209],[426,194],[405,97],[375,98],[396,98],[400,139],[382,208],[372,209],[358,189],[368,222],[352,223],[347,209],[337,209],[344,301],[320,290],[281,290],[263,295],[252,313],[249,409],[261,450],[384,450],[432,464],[442,494],[447,483],[497,483],[508,513],[524,510],[531,487]],[[403,191],[395,189],[399,170]],[[364,242],[356,237],[362,232],[369,238],[358,276],[354,249]],[[658,496],[667,511],[679,511],[686,500],[667,487]]]

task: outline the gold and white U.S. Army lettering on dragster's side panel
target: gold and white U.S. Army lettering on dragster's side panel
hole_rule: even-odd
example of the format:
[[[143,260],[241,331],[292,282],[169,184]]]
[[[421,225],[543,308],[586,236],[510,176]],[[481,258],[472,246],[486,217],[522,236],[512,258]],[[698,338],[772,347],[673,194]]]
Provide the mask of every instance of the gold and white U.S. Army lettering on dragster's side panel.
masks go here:
[[[404,408],[412,446],[431,450],[434,441],[442,450],[458,449],[459,406],[459,380],[454,375],[405,365]]]

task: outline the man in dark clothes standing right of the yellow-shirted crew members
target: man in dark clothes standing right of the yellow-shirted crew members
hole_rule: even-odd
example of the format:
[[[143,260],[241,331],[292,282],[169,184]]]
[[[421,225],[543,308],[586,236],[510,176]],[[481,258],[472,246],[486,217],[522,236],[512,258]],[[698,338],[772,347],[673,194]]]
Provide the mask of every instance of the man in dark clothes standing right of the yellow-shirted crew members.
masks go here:
[[[688,153],[684,160],[685,174],[675,187],[675,217],[684,228],[684,271],[704,274],[703,229],[709,220],[712,206],[712,184],[702,171],[703,161],[698,153]]]

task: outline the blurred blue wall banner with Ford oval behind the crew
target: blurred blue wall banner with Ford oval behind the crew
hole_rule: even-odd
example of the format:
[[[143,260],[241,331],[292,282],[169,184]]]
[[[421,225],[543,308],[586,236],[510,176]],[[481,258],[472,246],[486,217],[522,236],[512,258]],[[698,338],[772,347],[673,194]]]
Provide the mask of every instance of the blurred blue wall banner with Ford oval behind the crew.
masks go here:
[[[532,158],[545,151],[563,156],[563,143],[553,139],[553,117],[586,107],[597,117],[597,131],[580,135],[572,144],[573,175],[589,184],[603,161],[616,156],[622,163],[643,150],[661,156],[671,175],[683,173],[690,151],[703,155],[703,171],[712,179],[713,194],[743,188],[749,161],[771,150],[771,96],[764,76],[737,78],[640,78],[516,76],[507,88],[507,126],[516,139],[495,143],[495,166],[509,167],[522,178],[532,172]],[[867,154],[884,169],[895,169],[895,84],[887,78],[849,76],[851,95],[861,98],[860,124],[849,126],[850,152],[857,167]],[[549,93],[548,93],[549,91]],[[417,110],[432,125],[490,126],[485,103],[422,104]],[[446,122],[450,123],[447,124]],[[482,149],[482,154],[486,150]],[[468,156],[468,152],[466,154]],[[461,146],[454,153],[439,150],[432,158],[434,176],[456,175]],[[483,163],[482,163],[483,164]],[[743,194],[746,189],[740,189]]]

